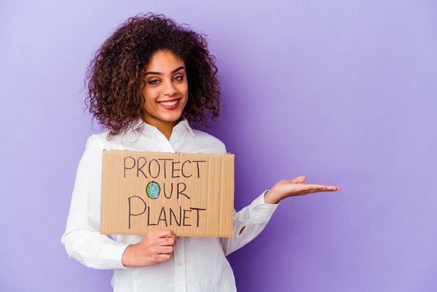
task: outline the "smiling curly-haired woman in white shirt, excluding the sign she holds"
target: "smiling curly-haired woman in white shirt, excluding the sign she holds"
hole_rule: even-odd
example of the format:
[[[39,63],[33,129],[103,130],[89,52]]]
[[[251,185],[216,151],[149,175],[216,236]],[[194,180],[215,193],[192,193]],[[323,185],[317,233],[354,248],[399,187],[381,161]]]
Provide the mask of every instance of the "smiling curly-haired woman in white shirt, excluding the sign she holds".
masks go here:
[[[101,235],[103,149],[225,153],[225,145],[191,128],[216,119],[220,92],[205,38],[163,15],[139,15],[103,43],[87,74],[87,106],[108,131],[93,135],[77,168],[62,236],[68,256],[91,268],[114,269],[114,291],[235,291],[225,256],[265,227],[283,198],[336,186],[281,180],[234,212],[233,238]]]

